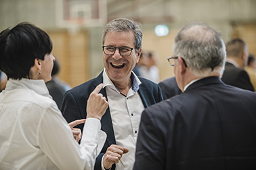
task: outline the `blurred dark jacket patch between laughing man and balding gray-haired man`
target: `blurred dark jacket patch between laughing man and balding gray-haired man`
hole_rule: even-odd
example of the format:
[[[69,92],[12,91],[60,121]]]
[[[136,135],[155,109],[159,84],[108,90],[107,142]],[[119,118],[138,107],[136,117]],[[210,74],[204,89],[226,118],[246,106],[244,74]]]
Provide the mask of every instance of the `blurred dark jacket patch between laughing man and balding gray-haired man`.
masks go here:
[[[177,86],[175,76],[167,78],[162,82],[159,82],[158,86],[160,86],[162,90],[164,100],[182,93],[182,90],[180,90],[179,87]]]

